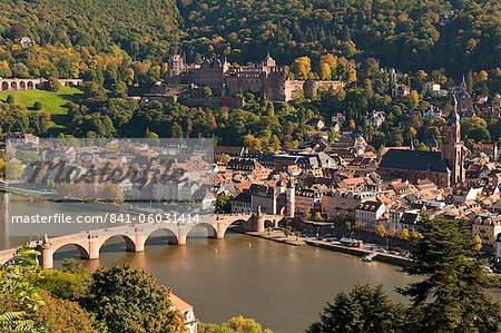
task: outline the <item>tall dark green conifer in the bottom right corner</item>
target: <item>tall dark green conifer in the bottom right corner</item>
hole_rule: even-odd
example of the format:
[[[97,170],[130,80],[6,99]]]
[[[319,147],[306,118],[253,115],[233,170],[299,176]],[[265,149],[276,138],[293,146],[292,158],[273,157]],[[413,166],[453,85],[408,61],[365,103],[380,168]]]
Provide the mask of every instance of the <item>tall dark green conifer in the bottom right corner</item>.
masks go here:
[[[423,215],[422,238],[404,272],[421,275],[400,292],[410,296],[412,332],[498,332],[501,306],[485,288],[494,286],[482,270],[478,244],[464,221]]]

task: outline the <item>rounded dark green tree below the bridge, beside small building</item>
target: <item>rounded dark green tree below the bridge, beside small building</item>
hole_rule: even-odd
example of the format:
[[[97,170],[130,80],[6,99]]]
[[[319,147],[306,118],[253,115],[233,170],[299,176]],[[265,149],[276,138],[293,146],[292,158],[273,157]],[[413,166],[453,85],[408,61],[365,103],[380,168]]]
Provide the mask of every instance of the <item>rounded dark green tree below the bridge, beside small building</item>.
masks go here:
[[[173,310],[169,291],[129,264],[96,271],[85,307],[106,323],[108,332],[183,332],[183,319]]]

